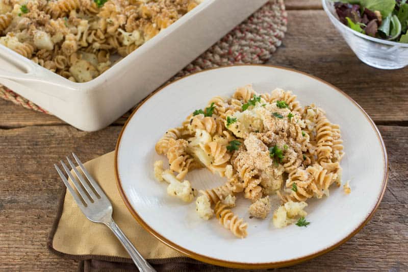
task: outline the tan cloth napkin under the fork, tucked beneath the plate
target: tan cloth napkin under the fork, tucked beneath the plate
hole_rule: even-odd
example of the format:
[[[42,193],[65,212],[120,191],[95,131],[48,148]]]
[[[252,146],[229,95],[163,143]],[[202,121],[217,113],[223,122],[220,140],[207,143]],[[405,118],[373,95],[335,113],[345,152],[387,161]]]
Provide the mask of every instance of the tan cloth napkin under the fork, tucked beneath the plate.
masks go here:
[[[127,210],[116,187],[113,157],[114,152],[108,153],[85,163],[85,167],[111,200],[113,219],[117,225],[146,259],[184,256],[145,231]],[[70,255],[129,258],[111,230],[103,224],[88,220],[70,193],[65,194],[62,214],[52,245],[56,251]]]

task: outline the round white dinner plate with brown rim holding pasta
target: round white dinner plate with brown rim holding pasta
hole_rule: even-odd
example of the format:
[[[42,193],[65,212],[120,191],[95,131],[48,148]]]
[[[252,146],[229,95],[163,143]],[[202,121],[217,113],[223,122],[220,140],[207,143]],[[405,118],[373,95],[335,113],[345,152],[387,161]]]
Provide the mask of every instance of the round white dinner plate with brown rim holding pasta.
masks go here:
[[[177,127],[211,97],[230,96],[253,84],[259,92],[276,87],[293,90],[302,106],[315,103],[331,122],[341,126],[345,156],[343,182],[351,193],[330,187],[330,196],[308,201],[308,227],[275,229],[267,219],[249,218],[249,201],[239,199],[233,211],[248,222],[248,236],[236,238],[216,219],[198,217],[195,202],[184,204],[166,193],[155,180],[153,163],[167,161],[155,144],[167,129]],[[166,164],[165,164],[166,165]],[[360,231],[373,215],[386,189],[388,160],[384,142],[373,121],[348,95],[336,87],[287,68],[243,65],[195,73],[150,95],[126,122],[116,145],[115,172],[123,201],[152,235],[185,255],[222,266],[270,268],[296,264],[326,253]],[[189,172],[196,189],[225,180],[207,169]],[[276,209],[278,204],[273,204]]]

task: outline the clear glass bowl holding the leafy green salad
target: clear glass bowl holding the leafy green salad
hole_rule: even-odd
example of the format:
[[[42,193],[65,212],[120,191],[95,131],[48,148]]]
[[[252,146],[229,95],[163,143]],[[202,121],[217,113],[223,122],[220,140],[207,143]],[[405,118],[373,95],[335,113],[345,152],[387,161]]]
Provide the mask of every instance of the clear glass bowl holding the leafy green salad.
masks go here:
[[[362,62],[379,69],[399,69],[408,65],[408,43],[381,40],[356,32],[338,19],[333,1],[322,0],[322,4],[330,21]]]

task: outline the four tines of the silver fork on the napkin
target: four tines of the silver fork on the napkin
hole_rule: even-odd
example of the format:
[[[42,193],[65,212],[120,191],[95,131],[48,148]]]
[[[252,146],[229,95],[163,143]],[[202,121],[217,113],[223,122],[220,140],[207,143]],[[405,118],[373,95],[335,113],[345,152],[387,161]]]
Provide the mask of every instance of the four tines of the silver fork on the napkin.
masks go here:
[[[89,174],[89,172],[85,169],[84,165],[78,159],[78,157],[74,153],[72,153],[72,156],[75,159],[75,161],[78,163],[78,166],[81,168],[87,180],[85,180],[84,176],[80,173],[77,167],[72,163],[69,157],[66,157],[68,164],[78,179],[76,179],[72,175],[71,171],[69,170],[69,168],[63,161],[60,161],[60,162],[66,174],[68,175],[73,185],[75,186],[75,189],[77,189],[78,193],[75,192],[75,189],[72,188],[72,186],[69,184],[67,178],[64,176],[63,172],[58,167],[58,165],[54,164],[54,166],[57,169],[57,172],[60,175],[65,186],[68,188],[69,192],[74,197],[75,202],[77,202],[78,205],[84,205],[86,207],[90,203],[93,203],[96,199],[100,199],[101,196],[106,196],[106,195],[104,191],[99,187],[99,185],[95,182],[95,180],[92,178],[92,176]]]

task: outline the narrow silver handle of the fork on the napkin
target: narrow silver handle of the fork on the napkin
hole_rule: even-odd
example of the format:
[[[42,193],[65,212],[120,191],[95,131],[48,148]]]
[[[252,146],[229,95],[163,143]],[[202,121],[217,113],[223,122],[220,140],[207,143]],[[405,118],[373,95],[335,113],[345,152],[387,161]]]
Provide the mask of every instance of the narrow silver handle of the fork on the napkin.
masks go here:
[[[137,251],[135,246],[127,239],[126,235],[122,232],[122,230],[116,225],[115,221],[111,218],[109,222],[104,223],[106,226],[108,226],[111,231],[116,235],[116,237],[119,239],[119,241],[122,243],[123,247],[129,253],[131,256],[132,260],[136,264],[137,268],[139,268],[140,271],[142,272],[153,272],[156,271],[155,268],[151,267],[151,265],[140,255],[140,253]]]

